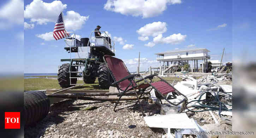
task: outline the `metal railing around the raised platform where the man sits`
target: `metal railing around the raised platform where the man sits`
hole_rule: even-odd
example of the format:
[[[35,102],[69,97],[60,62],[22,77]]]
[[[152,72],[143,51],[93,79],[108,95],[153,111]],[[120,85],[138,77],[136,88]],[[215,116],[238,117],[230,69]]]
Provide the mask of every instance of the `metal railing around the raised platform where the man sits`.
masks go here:
[[[92,35],[93,32],[103,32],[104,36],[95,37],[95,36]],[[107,37],[107,39],[106,39],[106,37]],[[109,42],[110,40],[111,39],[110,39],[109,35],[106,33],[106,31],[91,31],[90,38],[89,38],[90,46],[105,46],[109,50],[111,50],[113,53],[115,53],[115,42],[114,41]],[[102,44],[101,45],[96,45],[95,43],[97,41],[99,41],[99,42],[102,41]],[[88,48],[90,47],[89,42],[88,42]]]

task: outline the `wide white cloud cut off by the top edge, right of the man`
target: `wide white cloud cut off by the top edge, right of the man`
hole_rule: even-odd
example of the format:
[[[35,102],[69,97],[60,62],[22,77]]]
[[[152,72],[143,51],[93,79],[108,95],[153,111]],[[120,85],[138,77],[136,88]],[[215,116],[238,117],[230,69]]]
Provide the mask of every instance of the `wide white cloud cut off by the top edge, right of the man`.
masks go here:
[[[107,11],[142,18],[155,17],[167,9],[167,5],[180,4],[181,0],[108,0]]]

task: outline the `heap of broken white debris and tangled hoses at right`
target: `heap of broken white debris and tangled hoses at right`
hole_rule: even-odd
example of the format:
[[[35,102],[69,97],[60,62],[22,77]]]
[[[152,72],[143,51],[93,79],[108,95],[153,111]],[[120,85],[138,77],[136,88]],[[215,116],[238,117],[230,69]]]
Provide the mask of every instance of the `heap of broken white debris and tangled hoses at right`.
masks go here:
[[[149,127],[163,128],[169,138],[180,138],[182,134],[185,136],[186,134],[190,134],[188,132],[195,131],[231,131],[232,86],[217,85],[214,82],[221,81],[220,79],[222,78],[228,79],[228,77],[231,77],[232,79],[232,74],[219,73],[208,75],[198,80],[188,75],[181,77],[185,81],[178,82],[174,85],[174,88],[183,93],[188,99],[186,110],[184,111],[186,114],[174,112],[173,108],[169,108],[170,112],[165,111],[166,115],[162,115],[161,113],[162,116],[144,117],[147,125]],[[197,84],[198,82],[201,82],[201,84]],[[176,104],[183,99],[182,97],[183,96],[177,96],[177,98],[170,99],[170,101]],[[168,103],[163,101],[163,104],[165,109],[168,110],[168,108],[166,108]],[[181,106],[177,108],[180,109],[180,107]],[[209,124],[209,120],[212,120],[212,124]],[[208,122],[207,126],[205,125],[206,122]],[[180,124],[186,125],[182,126]],[[172,135],[169,129],[174,130]],[[202,136],[197,135],[197,137]]]

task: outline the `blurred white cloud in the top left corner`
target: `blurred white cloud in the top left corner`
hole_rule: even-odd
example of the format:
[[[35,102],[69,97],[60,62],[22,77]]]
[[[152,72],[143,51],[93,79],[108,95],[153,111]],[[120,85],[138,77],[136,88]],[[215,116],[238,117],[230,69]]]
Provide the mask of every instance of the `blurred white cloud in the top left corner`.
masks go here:
[[[22,25],[24,22],[23,0],[11,0],[0,8],[0,28],[10,28],[15,24]]]

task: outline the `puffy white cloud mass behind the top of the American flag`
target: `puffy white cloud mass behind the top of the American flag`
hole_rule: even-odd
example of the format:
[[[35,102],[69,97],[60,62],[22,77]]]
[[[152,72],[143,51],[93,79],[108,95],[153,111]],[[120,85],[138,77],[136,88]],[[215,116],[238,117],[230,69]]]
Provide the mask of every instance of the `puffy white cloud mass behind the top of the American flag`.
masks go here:
[[[51,3],[34,0],[25,6],[24,18],[30,19],[30,22],[36,22],[39,25],[56,22],[60,12],[66,8],[67,5],[62,4],[59,0]],[[64,16],[65,27],[67,31],[76,31],[81,29],[88,19],[89,16],[81,16],[75,11],[67,11],[66,16]]]

